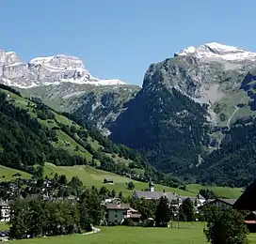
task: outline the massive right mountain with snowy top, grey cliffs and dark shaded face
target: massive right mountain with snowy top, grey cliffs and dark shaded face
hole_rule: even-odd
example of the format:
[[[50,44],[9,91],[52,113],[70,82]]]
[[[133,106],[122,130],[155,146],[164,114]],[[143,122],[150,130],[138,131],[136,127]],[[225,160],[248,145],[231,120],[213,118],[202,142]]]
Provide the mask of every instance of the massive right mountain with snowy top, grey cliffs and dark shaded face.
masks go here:
[[[110,138],[144,151],[158,169],[191,178],[232,124],[255,114],[255,58],[208,43],[152,64]]]

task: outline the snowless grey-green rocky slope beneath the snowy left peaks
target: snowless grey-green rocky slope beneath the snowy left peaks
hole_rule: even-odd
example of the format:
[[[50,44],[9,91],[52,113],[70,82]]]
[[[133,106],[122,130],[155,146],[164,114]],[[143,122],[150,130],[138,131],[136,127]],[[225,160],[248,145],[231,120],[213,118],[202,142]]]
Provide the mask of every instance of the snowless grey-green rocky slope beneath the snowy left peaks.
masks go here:
[[[20,89],[21,90],[21,89]],[[125,109],[124,103],[140,90],[137,85],[56,84],[22,89],[57,111],[76,114],[84,122],[109,134],[109,126]]]

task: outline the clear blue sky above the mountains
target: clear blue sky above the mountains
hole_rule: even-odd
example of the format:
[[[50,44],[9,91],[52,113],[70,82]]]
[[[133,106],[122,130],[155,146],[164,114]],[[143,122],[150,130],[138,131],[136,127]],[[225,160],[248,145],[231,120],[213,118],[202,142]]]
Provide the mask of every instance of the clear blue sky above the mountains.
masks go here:
[[[65,53],[92,75],[142,84],[149,65],[216,41],[256,52],[255,0],[1,0],[0,49]]]

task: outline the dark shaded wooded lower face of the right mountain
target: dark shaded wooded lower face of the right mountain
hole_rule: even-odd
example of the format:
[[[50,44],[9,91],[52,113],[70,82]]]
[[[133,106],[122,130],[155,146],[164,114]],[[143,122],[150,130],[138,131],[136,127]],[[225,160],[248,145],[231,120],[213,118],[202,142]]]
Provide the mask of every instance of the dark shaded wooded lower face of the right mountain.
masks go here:
[[[154,75],[158,82],[144,86],[126,104],[110,138],[144,152],[161,171],[184,175],[199,163],[207,142],[206,110],[175,88],[168,90],[161,73]]]

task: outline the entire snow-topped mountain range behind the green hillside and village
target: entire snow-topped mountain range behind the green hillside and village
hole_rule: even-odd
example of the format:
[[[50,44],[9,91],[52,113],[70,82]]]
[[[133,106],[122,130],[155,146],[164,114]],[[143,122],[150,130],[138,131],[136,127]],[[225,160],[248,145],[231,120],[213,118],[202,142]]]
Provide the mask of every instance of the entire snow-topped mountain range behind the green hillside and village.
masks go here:
[[[0,81],[75,114],[162,172],[242,186],[254,169],[255,61],[256,53],[216,42],[188,47],[152,64],[139,87],[94,78],[77,57],[24,64],[1,51]]]

